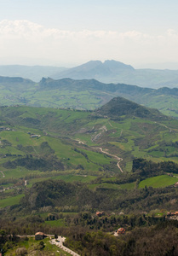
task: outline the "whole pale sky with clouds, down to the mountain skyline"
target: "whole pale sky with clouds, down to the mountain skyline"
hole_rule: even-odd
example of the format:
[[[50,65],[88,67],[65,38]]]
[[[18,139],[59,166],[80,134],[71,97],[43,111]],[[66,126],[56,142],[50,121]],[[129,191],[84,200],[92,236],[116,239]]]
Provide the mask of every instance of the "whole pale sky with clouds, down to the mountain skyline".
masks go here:
[[[178,69],[176,0],[0,0],[0,65]]]

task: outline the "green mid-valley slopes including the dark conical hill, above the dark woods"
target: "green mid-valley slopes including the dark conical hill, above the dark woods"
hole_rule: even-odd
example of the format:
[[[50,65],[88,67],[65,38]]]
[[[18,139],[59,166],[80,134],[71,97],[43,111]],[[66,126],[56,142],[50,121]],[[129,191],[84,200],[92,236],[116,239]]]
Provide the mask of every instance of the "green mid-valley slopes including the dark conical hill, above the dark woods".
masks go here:
[[[5,107],[0,108],[0,114],[2,156],[6,155],[2,165],[8,172],[18,166],[63,172],[78,168],[79,161],[84,173],[108,168],[112,173],[120,172],[117,160],[121,158],[121,168],[130,171],[138,156],[177,162],[177,121],[120,97],[93,112]]]

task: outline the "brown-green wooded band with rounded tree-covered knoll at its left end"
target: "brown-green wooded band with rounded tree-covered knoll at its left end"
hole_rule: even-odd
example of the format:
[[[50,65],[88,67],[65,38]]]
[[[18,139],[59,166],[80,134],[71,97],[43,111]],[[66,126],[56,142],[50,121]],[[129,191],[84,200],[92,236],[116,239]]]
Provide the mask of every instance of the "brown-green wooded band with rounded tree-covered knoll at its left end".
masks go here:
[[[83,183],[66,183],[64,181],[47,180],[33,184],[26,189],[26,196],[21,199],[19,211],[43,211],[52,207],[57,212],[89,211],[124,211],[141,212],[155,208],[178,208],[176,188],[167,187],[153,189],[89,189]],[[59,210],[57,210],[59,209]]]

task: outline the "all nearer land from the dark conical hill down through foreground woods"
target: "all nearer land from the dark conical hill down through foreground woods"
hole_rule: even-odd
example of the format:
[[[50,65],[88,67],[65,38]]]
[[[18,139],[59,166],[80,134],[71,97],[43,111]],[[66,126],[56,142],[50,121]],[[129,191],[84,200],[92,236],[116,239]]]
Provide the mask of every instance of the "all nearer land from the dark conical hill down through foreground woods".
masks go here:
[[[39,230],[66,236],[67,247],[87,255],[113,255],[111,247],[129,255],[133,236],[135,253],[152,252],[142,239],[152,230],[161,245],[165,227],[175,237],[177,220],[165,215],[178,207],[176,119],[115,97],[95,111],[0,107],[0,124],[0,244],[7,255],[17,247],[43,255],[49,239],[39,247],[29,237]],[[113,236],[120,227],[125,235]],[[58,249],[50,246],[47,255]]]

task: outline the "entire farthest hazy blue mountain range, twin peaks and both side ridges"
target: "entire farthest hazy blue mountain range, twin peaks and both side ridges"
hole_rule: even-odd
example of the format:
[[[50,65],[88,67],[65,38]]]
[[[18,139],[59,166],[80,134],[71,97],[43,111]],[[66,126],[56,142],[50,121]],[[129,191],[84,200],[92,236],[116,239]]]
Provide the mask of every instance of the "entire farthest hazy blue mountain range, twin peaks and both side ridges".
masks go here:
[[[0,66],[0,75],[22,77],[38,82],[42,77],[52,79],[96,79],[102,83],[135,84],[141,87],[174,88],[178,86],[178,70],[135,69],[120,61],[89,61],[78,67]]]

